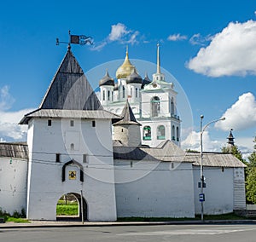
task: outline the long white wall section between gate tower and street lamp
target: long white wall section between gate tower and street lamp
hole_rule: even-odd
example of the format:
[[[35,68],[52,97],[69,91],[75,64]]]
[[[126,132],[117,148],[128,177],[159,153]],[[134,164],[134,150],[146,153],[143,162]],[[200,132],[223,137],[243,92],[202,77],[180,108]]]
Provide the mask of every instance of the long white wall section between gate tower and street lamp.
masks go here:
[[[114,160],[118,217],[194,217],[192,164]]]

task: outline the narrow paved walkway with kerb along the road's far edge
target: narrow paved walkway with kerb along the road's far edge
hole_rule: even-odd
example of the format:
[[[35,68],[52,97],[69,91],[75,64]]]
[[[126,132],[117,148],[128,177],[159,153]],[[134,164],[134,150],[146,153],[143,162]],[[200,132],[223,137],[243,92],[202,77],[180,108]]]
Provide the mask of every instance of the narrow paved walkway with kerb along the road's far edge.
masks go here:
[[[176,224],[238,224],[255,223],[256,220],[207,220],[204,222],[167,221],[167,222],[56,222],[56,221],[31,221],[31,222],[5,222],[0,223],[1,228],[61,228],[61,227],[102,227],[102,226],[141,226],[141,225],[176,225]]]

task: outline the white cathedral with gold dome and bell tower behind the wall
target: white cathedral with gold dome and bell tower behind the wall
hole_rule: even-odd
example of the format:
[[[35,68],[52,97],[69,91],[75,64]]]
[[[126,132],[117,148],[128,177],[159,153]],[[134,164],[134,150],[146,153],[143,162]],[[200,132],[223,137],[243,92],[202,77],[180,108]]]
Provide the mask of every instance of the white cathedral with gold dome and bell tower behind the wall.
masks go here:
[[[117,82],[106,75],[100,80],[102,107],[120,114],[128,100],[132,112],[141,125],[144,145],[157,147],[162,141],[172,141],[180,146],[180,123],[177,114],[177,92],[160,70],[160,45],[157,45],[157,65],[152,80],[142,78],[131,64],[128,49],[124,63],[116,71]]]

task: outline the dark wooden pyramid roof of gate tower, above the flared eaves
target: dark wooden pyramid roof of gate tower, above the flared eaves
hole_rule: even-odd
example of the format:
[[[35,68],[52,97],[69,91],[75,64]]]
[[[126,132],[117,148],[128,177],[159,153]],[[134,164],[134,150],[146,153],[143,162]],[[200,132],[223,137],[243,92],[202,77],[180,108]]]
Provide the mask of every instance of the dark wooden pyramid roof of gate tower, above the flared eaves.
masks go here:
[[[78,61],[70,48],[61,62],[40,109],[102,110],[94,90],[91,88]]]

